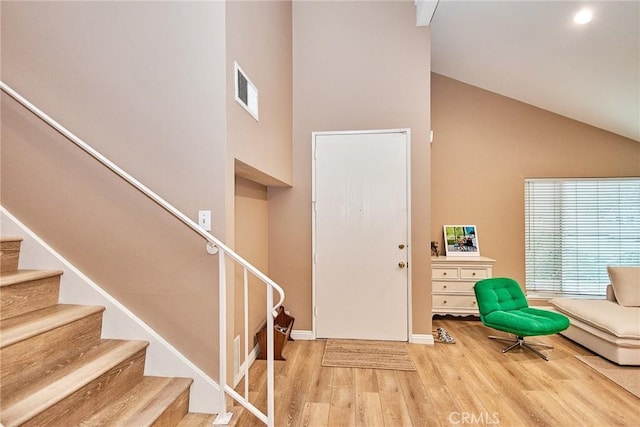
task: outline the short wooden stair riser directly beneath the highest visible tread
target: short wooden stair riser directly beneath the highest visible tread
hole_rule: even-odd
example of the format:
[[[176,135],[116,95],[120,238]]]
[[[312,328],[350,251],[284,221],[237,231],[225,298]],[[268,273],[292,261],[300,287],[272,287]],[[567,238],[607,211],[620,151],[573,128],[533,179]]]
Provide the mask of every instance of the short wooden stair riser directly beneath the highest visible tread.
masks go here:
[[[60,276],[3,286],[0,289],[0,320],[58,303]]]

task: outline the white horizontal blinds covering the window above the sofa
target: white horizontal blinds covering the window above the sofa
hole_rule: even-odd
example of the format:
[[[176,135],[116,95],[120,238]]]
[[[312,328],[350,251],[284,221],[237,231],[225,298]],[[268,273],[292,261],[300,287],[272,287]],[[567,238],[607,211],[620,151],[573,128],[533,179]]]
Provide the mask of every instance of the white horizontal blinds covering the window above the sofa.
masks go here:
[[[527,291],[604,296],[609,265],[640,265],[640,178],[526,179]]]

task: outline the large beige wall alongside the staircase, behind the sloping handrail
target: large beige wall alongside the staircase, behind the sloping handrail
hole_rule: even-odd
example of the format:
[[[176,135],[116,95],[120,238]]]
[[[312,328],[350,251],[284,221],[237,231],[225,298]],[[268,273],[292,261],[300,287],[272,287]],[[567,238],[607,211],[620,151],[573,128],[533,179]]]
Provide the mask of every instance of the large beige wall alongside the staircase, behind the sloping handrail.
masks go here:
[[[225,238],[224,2],[2,2],[1,24],[7,84]],[[217,377],[204,241],[2,101],[3,206]]]

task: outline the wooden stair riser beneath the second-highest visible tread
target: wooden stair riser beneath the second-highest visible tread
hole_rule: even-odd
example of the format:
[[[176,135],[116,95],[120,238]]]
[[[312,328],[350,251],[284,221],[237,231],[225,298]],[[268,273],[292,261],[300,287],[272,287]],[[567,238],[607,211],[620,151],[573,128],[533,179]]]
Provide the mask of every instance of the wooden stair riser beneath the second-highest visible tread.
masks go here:
[[[2,396],[11,396],[38,377],[81,359],[100,343],[102,312],[20,341],[0,351]]]

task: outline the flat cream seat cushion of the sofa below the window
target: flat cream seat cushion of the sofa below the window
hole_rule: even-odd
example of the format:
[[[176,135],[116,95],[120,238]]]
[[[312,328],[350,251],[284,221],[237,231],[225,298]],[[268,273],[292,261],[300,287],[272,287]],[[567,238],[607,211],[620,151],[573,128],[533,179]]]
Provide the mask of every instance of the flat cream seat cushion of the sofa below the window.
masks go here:
[[[612,301],[554,298],[549,302],[576,318],[619,338],[640,339],[640,307],[623,307]]]

